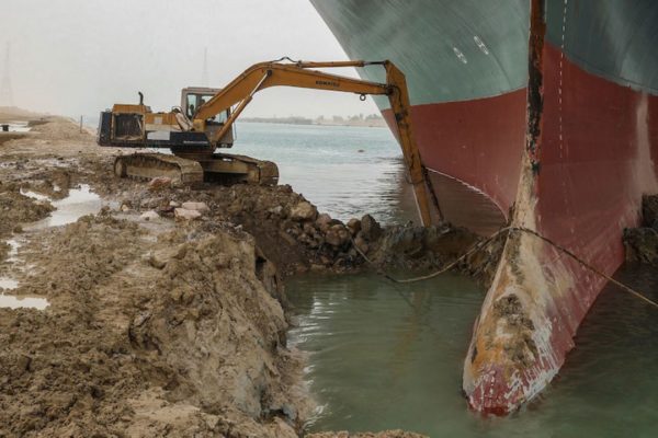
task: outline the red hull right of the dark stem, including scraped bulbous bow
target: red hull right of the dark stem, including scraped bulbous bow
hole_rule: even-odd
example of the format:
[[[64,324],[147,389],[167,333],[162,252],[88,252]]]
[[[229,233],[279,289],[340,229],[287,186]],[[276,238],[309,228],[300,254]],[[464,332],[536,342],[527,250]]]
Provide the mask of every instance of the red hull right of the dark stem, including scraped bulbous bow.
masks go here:
[[[658,192],[658,97],[585,71],[549,43],[541,62],[541,131],[513,224],[612,275],[623,229],[637,226],[643,194]],[[510,238],[465,360],[469,404],[506,414],[536,395],[605,283],[536,237]]]

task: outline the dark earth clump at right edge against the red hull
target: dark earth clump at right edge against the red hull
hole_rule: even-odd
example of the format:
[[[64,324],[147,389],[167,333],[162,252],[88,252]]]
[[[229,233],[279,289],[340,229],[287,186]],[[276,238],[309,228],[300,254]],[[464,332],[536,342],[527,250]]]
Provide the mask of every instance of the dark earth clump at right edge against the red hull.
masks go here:
[[[631,263],[658,264],[658,195],[642,198],[642,226],[627,228],[622,234],[626,261]]]

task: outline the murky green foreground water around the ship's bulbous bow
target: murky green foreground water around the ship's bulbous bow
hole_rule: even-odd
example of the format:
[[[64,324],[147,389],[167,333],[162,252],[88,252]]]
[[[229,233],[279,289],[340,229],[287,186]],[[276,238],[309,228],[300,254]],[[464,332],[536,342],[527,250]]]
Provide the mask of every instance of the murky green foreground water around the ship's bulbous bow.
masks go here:
[[[658,299],[658,272],[617,277]],[[404,428],[431,437],[658,436],[658,311],[609,287],[558,377],[531,405],[485,418],[461,394],[462,362],[485,291],[445,275],[411,286],[374,274],[286,284],[319,405],[309,430]]]

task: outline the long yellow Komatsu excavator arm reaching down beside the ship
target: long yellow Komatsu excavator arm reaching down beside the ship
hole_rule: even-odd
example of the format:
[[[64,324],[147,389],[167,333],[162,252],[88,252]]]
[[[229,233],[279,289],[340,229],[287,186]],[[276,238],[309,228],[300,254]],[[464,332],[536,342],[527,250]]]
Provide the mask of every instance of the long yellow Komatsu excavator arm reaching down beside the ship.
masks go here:
[[[365,67],[381,65],[386,70],[386,83],[363,81],[330,74],[314,68]],[[222,129],[216,130],[209,141],[216,145],[231,128],[240,113],[260,90],[270,87],[297,87],[313,90],[338,91],[361,95],[386,95],[397,125],[397,138],[402,149],[413,193],[423,226],[431,224],[429,182],[411,127],[410,103],[407,82],[402,72],[390,61],[365,62],[261,62],[247,69],[220,92],[202,105],[194,115],[194,130],[205,131],[205,120],[234,107]]]

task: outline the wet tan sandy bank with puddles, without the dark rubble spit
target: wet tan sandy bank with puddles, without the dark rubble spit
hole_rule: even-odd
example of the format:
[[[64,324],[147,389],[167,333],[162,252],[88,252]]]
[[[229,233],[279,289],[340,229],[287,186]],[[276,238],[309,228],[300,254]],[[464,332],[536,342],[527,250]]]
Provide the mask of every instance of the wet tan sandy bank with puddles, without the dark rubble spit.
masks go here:
[[[275,269],[231,223],[141,218],[162,195],[116,152],[64,118],[0,146],[0,435],[296,437]]]

